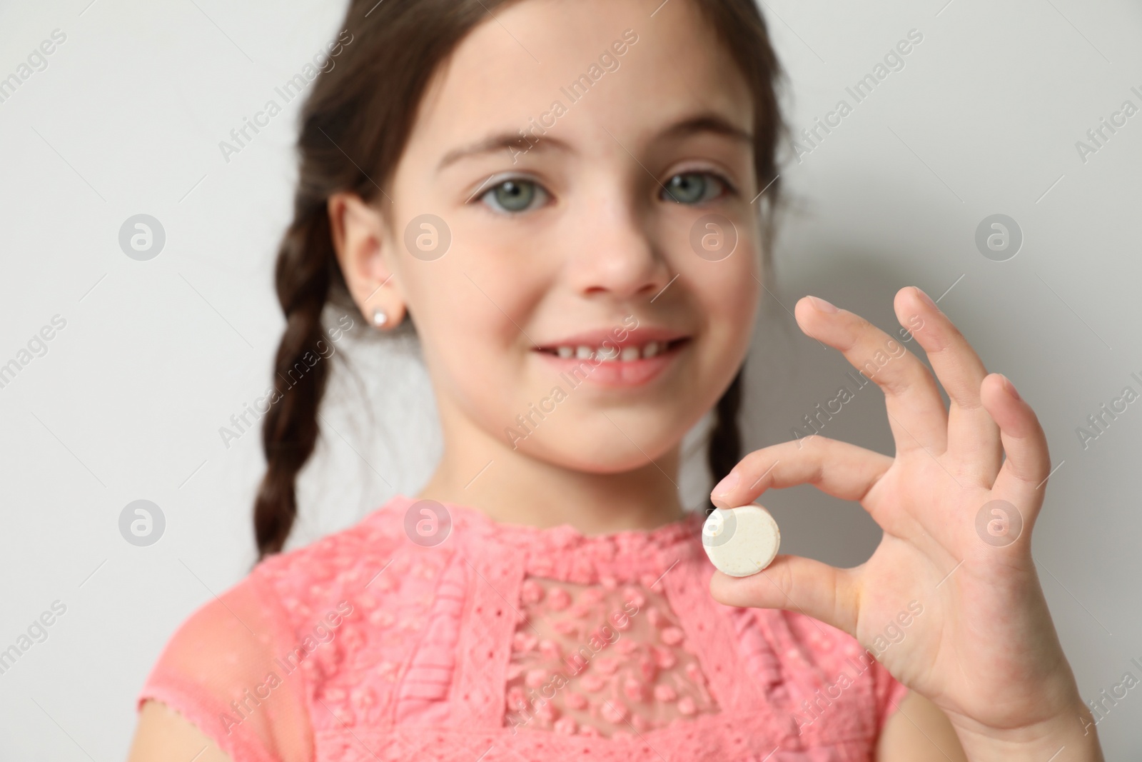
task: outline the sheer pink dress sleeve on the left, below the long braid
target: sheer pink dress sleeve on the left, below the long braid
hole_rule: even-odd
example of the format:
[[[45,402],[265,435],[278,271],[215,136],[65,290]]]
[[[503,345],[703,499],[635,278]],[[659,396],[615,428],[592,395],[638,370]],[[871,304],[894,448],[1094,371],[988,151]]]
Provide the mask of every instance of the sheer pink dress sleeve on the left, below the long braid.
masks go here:
[[[255,570],[178,627],[136,709],[147,700],[166,704],[233,762],[307,760],[312,733],[304,674],[281,666],[293,640],[280,603]]]

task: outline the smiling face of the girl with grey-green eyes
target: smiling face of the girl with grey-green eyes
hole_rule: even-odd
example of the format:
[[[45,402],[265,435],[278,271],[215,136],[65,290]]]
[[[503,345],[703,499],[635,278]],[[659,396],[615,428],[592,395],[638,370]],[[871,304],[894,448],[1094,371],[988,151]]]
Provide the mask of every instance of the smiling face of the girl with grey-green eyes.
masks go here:
[[[351,290],[411,313],[445,448],[646,466],[745,360],[750,94],[697,8],[660,3],[492,10],[421,102],[384,217],[347,215]]]

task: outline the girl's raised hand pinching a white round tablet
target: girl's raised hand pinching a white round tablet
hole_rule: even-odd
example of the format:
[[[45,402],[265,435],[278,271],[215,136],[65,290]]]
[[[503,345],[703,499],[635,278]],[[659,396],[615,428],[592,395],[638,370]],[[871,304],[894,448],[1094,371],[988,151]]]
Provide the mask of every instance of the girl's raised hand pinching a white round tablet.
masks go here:
[[[927,353],[950,409],[928,369],[893,337],[805,297],[796,306],[802,330],[839,350],[884,392],[895,457],[814,435],[751,452],[711,494],[729,508],[770,488],[812,483],[856,500],[884,530],[872,556],[837,569],[779,555],[750,577],[716,572],[710,592],[730,605],[802,611],[855,636],[948,714],[970,755],[978,748],[989,756],[998,739],[1049,739],[1057,748],[1063,732],[1073,743],[1086,707],[1031,559],[1051,472],[1043,428],[927,295],[901,289],[894,307]],[[903,639],[887,645],[886,627]]]

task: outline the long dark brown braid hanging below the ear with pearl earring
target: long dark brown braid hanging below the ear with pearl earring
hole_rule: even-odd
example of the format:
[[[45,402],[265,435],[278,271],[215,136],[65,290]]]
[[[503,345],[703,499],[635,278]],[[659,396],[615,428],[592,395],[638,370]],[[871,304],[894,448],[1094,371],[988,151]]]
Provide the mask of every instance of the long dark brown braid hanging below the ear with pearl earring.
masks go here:
[[[258,560],[278,553],[297,516],[297,474],[317,441],[317,408],[329,378],[329,362],[312,366],[303,356],[324,337],[321,313],[329,297],[330,266],[336,265],[324,204],[300,211],[278,251],[274,280],[286,314],[286,330],[274,360],[274,402],[262,426],[266,473],[254,504]],[[299,367],[298,367],[299,366]],[[300,371],[299,374],[295,371]],[[290,384],[290,372],[300,378]]]

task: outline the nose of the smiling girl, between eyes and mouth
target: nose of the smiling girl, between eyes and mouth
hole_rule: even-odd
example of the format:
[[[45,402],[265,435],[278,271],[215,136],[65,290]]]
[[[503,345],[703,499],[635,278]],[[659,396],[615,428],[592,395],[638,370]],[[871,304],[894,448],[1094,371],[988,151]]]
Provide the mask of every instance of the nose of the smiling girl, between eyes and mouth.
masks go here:
[[[596,182],[571,215],[568,278],[584,296],[653,298],[670,280],[651,231],[651,209],[621,184]]]

